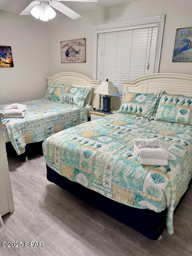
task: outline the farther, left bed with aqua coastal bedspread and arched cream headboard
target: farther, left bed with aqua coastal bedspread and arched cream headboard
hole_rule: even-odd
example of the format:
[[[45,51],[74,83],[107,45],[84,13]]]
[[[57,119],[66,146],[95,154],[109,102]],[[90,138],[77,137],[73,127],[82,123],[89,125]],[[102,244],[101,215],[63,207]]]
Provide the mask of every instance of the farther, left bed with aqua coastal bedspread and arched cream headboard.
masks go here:
[[[47,99],[21,102],[27,105],[27,114],[24,118],[3,118],[5,142],[11,142],[17,154],[25,152],[28,143],[43,141],[50,135],[74,125],[88,121],[89,111],[99,108],[99,95],[94,90],[100,81],[91,80],[87,76],[63,72],[52,77],[46,77],[48,84],[73,84],[82,87],[93,87],[90,106],[83,108],[69,103],[60,103]],[[8,104],[6,104],[8,105]],[[4,113],[0,105],[0,113]]]

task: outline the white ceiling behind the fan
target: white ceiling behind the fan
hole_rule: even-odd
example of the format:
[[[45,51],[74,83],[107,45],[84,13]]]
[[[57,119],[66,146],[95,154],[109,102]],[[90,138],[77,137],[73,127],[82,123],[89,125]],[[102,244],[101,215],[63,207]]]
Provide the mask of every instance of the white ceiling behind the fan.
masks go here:
[[[33,0],[0,0],[0,10],[13,13],[21,13]],[[117,4],[125,4],[135,2],[138,0],[98,0],[99,3],[87,3],[87,2],[62,2],[75,12],[83,13],[96,9],[101,9]],[[56,11],[56,17],[65,16],[64,14]]]

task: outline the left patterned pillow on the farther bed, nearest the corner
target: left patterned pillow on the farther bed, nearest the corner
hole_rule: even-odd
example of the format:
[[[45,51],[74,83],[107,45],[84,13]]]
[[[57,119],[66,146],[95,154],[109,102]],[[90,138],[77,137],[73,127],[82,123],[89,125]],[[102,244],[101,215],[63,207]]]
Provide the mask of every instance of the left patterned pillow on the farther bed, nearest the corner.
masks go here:
[[[62,90],[65,84],[50,83],[45,94],[45,99],[53,101],[61,101],[63,99]]]

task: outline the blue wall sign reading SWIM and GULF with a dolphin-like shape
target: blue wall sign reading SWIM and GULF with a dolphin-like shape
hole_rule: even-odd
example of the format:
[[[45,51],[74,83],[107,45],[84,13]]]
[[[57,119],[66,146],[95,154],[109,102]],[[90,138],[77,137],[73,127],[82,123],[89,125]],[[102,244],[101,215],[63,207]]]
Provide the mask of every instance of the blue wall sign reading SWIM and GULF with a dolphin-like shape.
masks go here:
[[[177,29],[172,61],[192,62],[192,28]]]

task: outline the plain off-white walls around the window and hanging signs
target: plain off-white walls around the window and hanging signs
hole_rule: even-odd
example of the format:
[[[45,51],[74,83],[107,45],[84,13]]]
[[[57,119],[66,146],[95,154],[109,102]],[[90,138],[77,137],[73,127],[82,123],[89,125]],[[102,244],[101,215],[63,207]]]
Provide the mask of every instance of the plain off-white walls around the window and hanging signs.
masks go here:
[[[191,10],[191,0],[140,0],[49,22],[0,11],[0,45],[12,46],[14,63],[0,68],[0,104],[44,97],[47,75],[71,71],[92,78],[94,25],[161,14],[166,20],[159,71],[192,75],[192,63],[172,62],[176,29],[192,27]],[[86,63],[61,63],[60,41],[79,38],[86,38]],[[113,99],[112,108],[118,105]]]

